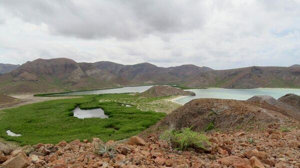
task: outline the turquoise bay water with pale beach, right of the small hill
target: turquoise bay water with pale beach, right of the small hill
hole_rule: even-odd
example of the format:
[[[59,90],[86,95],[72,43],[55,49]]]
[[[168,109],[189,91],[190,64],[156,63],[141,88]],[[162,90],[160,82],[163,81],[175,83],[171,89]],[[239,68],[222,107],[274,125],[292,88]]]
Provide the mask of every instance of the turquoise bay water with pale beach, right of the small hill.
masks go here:
[[[247,100],[255,95],[269,95],[275,99],[284,96],[287,93],[294,93],[300,95],[300,89],[281,89],[281,88],[257,88],[257,89],[223,89],[223,88],[209,88],[209,89],[188,89],[195,92],[195,96],[187,96],[177,99],[178,103],[187,103],[192,99],[199,98],[217,98],[217,99],[235,99]]]

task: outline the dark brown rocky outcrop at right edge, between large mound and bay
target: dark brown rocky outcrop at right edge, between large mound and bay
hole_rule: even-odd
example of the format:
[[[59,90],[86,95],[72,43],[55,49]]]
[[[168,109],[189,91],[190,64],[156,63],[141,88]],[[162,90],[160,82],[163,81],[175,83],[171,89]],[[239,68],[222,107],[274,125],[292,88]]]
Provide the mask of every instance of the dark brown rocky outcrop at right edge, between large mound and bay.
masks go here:
[[[253,96],[247,101],[257,102],[258,106],[263,108],[263,102],[267,103],[274,108],[278,108],[280,113],[300,120],[300,96],[294,94],[286,94],[278,100],[271,96]]]

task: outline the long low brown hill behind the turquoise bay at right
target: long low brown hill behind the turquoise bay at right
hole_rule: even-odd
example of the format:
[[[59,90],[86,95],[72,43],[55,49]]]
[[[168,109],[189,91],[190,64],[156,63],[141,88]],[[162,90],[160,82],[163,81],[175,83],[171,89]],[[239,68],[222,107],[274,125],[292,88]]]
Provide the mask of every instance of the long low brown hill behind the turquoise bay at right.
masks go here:
[[[246,67],[201,72],[187,81],[188,87],[259,88],[300,87],[300,68]]]

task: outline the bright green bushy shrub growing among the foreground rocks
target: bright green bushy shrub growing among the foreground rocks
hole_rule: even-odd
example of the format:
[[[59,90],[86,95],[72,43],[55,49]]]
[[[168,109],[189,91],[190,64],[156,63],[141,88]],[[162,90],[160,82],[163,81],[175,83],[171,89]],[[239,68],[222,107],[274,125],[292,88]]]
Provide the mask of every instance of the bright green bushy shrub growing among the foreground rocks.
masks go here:
[[[161,134],[160,139],[165,140],[171,148],[181,151],[185,151],[187,148],[205,149],[204,145],[209,144],[205,135],[191,131],[190,128],[165,131]]]

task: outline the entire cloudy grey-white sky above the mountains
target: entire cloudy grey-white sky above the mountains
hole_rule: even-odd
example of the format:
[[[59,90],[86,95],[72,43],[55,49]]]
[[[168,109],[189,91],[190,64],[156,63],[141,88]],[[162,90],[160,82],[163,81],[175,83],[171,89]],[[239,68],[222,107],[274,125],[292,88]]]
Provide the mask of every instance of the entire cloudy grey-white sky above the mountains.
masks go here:
[[[300,64],[300,0],[0,0],[0,63]]]

